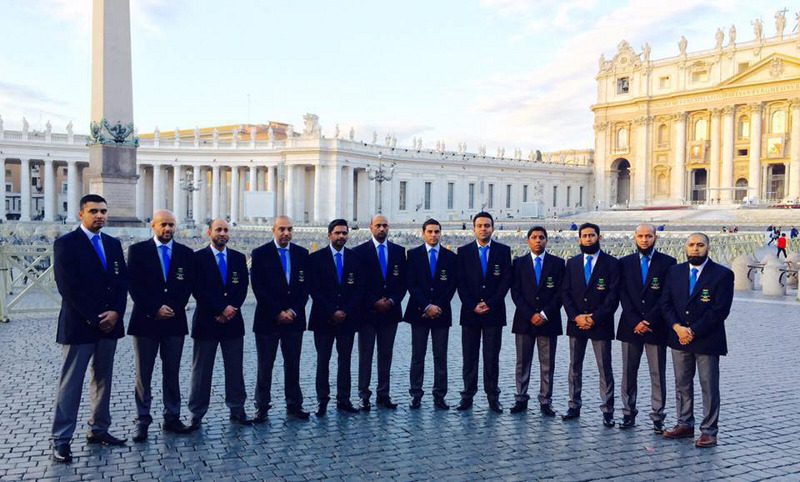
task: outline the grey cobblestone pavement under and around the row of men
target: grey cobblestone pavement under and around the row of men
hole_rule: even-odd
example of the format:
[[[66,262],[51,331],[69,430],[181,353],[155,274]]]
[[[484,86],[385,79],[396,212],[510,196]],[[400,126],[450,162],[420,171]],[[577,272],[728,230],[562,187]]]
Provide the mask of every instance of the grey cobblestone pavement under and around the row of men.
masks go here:
[[[282,365],[278,362],[273,386],[276,408],[270,412],[269,421],[256,427],[231,426],[218,357],[211,410],[204,428],[189,436],[164,434],[154,424],[150,440],[144,444],[87,446],[83,438],[89,417],[87,389],[72,445],[75,461],[69,466],[49,460],[48,435],[61,353],[54,342],[55,323],[52,317],[43,316],[15,320],[0,325],[0,480],[800,480],[796,417],[800,383],[795,350],[800,335],[798,308],[800,304],[789,298],[739,297],[734,302],[728,321],[731,354],[721,363],[719,446],[711,449],[696,449],[689,440],[669,441],[653,434],[646,416],[650,390],[644,360],[639,425],[633,430],[603,427],[596,408],[597,370],[591,356],[586,359],[584,409],[578,421],[541,418],[535,399],[533,410],[527,414],[511,415],[506,410],[496,415],[487,410],[481,394],[476,397],[475,408],[466,413],[435,411],[429,395],[423,399],[421,410],[409,410],[410,329],[402,324],[392,368],[392,395],[401,404],[397,411],[373,409],[367,414],[344,415],[334,409],[323,419],[312,415],[308,422],[287,420],[282,410]],[[244,311],[251,316],[253,306],[246,306]],[[188,396],[191,347],[187,342],[181,372],[184,400]],[[248,333],[245,350],[245,379],[252,397],[256,374],[252,333]],[[460,353],[460,330],[454,328],[449,356],[448,400],[452,404],[462,387]],[[354,367],[355,356],[354,351]],[[620,347],[615,342],[617,417],[621,418],[619,357]],[[675,422],[669,363],[667,426]],[[560,412],[566,411],[567,405],[567,364],[567,338],[562,337],[554,394],[554,405]],[[315,358],[308,333],[302,366],[306,408],[313,409]],[[514,394],[510,327],[504,334],[500,368],[501,401],[508,408]],[[154,380],[160,380],[159,370],[157,365]],[[333,367],[331,373],[335,373]],[[117,349],[111,432],[128,438],[133,429],[133,378],[131,341],[125,338]],[[429,354],[428,394],[432,378]],[[534,364],[532,383],[538,384],[538,363]],[[154,415],[161,410],[158,385],[153,387]],[[699,394],[698,386],[698,415]],[[252,415],[253,409],[249,412]],[[185,409],[183,413],[188,418]]]

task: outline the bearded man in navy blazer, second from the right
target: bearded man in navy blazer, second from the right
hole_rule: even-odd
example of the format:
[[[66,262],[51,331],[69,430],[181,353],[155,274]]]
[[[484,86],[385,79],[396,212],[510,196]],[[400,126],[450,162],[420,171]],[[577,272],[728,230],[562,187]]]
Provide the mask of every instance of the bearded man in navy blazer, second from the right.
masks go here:
[[[640,224],[634,231],[637,252],[620,259],[620,303],[622,316],[617,339],[622,342],[622,413],[620,428],[636,424],[637,377],[642,352],[650,368],[650,402],[653,431],[664,432],[664,403],[667,398],[667,341],[661,316],[661,294],[667,271],[675,258],[656,251],[656,228]]]

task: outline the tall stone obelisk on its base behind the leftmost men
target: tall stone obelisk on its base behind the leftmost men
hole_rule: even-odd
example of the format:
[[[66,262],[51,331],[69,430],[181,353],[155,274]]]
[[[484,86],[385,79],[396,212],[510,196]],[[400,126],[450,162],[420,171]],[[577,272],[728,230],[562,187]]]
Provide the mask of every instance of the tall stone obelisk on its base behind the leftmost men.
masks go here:
[[[129,0],[93,0],[88,192],[108,200],[113,225],[138,225]]]

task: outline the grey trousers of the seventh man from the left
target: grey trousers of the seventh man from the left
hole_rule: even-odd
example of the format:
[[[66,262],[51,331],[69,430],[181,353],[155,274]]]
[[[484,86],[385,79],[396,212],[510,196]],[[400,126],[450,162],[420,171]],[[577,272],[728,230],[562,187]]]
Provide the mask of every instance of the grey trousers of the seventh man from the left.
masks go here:
[[[450,327],[430,328],[411,325],[411,370],[409,373],[412,397],[422,397],[422,382],[425,380],[425,354],[428,351],[428,334],[433,348],[433,396],[444,398],[447,395],[447,340]]]

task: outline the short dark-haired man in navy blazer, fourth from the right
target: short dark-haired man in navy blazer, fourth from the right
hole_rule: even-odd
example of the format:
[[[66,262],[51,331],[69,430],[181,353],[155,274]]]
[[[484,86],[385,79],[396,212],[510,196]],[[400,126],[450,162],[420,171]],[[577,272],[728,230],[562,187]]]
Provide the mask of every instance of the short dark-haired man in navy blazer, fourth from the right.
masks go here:
[[[517,309],[511,332],[515,335],[517,365],[516,403],[511,413],[528,410],[528,385],[534,347],[539,349],[539,410],[546,417],[553,411],[553,373],[556,343],[561,328],[561,282],[564,260],[547,253],[547,230],[534,226],[528,230],[530,254],[514,260],[511,298]]]

